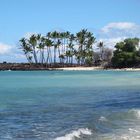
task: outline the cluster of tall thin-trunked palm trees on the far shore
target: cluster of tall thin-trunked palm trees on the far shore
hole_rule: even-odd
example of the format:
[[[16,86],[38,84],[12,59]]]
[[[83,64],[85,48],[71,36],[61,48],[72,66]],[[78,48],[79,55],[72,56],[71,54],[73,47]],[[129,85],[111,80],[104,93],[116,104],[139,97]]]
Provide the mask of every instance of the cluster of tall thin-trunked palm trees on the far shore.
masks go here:
[[[95,37],[87,29],[76,34],[70,32],[48,32],[46,36],[32,34],[22,38],[20,46],[29,63],[92,65]],[[102,51],[103,44],[99,44]],[[101,56],[102,57],[102,56]]]

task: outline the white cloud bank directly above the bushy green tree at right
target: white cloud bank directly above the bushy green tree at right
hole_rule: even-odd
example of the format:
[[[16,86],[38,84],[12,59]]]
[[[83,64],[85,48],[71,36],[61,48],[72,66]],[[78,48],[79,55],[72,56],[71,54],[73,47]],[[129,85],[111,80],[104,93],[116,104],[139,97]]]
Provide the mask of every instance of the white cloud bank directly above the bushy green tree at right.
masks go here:
[[[97,32],[98,41],[103,41],[107,47],[114,47],[117,42],[126,38],[140,38],[140,25],[132,22],[112,22]]]

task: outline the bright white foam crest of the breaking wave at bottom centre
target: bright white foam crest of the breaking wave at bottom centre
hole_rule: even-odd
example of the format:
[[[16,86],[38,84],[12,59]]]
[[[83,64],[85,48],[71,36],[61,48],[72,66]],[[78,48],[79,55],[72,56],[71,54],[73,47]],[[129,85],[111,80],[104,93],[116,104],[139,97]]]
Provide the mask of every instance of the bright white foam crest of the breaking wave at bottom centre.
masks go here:
[[[75,131],[72,131],[69,134],[66,134],[65,136],[58,137],[55,140],[73,140],[75,137],[80,138],[81,135],[91,135],[92,132],[88,128],[81,128]]]

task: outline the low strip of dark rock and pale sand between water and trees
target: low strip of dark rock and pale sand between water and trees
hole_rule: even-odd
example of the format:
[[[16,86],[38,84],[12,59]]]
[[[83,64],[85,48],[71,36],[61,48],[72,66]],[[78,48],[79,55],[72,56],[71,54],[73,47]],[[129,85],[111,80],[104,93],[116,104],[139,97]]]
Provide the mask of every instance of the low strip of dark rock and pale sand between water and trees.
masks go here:
[[[105,68],[102,66],[41,66],[28,63],[0,63],[0,71],[140,71],[140,68]]]

